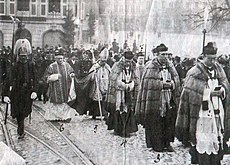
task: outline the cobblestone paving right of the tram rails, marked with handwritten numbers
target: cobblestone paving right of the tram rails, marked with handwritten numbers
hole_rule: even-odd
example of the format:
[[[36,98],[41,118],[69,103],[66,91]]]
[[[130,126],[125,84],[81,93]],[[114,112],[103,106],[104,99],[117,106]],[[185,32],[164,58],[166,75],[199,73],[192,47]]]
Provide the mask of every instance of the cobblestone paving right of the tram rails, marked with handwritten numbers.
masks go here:
[[[47,105],[49,103],[36,102],[35,104],[44,110],[49,107]],[[98,125],[96,133],[95,125]],[[126,138],[126,147],[121,146],[124,138],[114,135],[113,131],[108,131],[104,121],[92,120],[88,116],[73,116],[70,123],[64,124],[63,133],[100,165],[191,164],[188,148],[184,148],[178,140],[172,143],[175,152],[154,152],[146,147],[144,128],[140,125],[138,127],[135,135]],[[160,154],[160,161],[156,163],[158,154]],[[230,164],[229,155],[224,156],[222,164]]]

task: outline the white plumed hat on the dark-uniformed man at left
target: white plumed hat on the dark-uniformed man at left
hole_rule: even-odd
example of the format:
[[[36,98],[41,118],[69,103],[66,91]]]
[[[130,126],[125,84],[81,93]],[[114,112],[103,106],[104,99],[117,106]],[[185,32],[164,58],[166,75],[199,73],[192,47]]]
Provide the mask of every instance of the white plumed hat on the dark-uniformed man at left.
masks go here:
[[[32,47],[28,39],[18,39],[14,46],[14,55],[18,61],[18,55],[29,55],[32,53]]]

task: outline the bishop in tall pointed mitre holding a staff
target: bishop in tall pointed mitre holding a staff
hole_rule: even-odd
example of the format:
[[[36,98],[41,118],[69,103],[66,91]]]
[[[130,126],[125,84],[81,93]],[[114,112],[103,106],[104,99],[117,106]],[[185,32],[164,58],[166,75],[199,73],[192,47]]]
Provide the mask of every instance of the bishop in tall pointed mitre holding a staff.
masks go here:
[[[89,111],[89,115],[92,115],[93,119],[96,119],[96,116],[105,115],[104,105],[109,87],[109,74],[111,72],[110,66],[106,63],[108,56],[108,49],[102,49],[99,54],[99,60],[89,70],[89,72],[94,72],[92,74],[94,83],[91,87],[92,103],[90,103]]]

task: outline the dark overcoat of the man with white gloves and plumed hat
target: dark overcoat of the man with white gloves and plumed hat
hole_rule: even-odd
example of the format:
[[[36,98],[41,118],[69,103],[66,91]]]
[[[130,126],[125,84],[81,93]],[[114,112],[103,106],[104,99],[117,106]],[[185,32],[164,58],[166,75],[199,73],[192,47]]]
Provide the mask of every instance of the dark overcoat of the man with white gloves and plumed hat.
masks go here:
[[[32,112],[31,93],[36,92],[36,75],[34,63],[15,63],[11,68],[11,76],[6,79],[4,96],[11,100],[11,116],[27,117]],[[12,89],[10,90],[10,86]]]

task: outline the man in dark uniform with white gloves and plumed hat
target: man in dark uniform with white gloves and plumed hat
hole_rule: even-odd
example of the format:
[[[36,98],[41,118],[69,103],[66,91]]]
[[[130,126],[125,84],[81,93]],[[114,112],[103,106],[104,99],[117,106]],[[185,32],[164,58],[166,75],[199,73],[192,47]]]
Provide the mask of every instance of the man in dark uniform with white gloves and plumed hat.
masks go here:
[[[11,68],[12,76],[7,75],[3,95],[4,102],[11,103],[11,116],[16,118],[19,139],[23,138],[24,120],[32,112],[33,100],[36,94],[36,76],[34,63],[29,62],[28,54],[30,50],[20,43],[17,43],[16,63]]]

